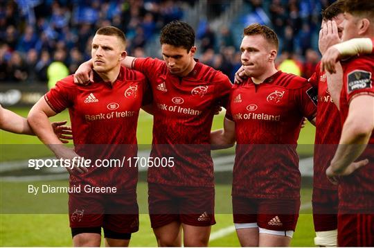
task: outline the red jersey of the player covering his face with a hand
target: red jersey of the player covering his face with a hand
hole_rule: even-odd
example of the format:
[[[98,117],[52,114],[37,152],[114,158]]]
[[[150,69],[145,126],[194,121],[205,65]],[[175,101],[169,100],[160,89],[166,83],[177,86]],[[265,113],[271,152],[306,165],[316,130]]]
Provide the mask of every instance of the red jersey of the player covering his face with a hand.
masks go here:
[[[339,110],[332,101],[326,73],[321,72],[319,62],[316,71],[309,78],[310,84],[318,89],[318,105],[316,117],[316,137],[314,140],[314,175],[313,186],[328,190],[337,190],[326,177],[326,169],[334,157],[341,134]]]

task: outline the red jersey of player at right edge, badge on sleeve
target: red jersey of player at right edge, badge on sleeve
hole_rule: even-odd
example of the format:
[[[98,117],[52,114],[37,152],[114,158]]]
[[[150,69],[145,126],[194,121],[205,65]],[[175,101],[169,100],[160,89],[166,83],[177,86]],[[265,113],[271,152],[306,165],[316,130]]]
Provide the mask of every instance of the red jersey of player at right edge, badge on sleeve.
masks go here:
[[[343,87],[340,95],[341,123],[346,121],[350,101],[360,95],[374,96],[374,55],[354,57],[343,63]],[[374,109],[374,106],[367,106]],[[374,110],[373,110],[374,111]],[[373,121],[368,116],[367,121]],[[374,212],[374,133],[366,150],[357,159],[369,163],[348,177],[341,177],[339,184],[339,209],[370,210]]]

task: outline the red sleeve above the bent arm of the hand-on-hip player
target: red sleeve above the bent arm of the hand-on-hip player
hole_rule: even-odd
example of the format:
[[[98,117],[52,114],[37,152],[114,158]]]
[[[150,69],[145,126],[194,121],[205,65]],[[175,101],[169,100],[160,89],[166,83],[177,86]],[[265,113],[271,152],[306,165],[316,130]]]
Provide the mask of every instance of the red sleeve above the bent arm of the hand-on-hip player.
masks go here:
[[[73,105],[74,87],[78,86],[74,85],[73,76],[69,76],[58,81],[55,87],[44,95],[44,99],[54,112],[60,113]]]

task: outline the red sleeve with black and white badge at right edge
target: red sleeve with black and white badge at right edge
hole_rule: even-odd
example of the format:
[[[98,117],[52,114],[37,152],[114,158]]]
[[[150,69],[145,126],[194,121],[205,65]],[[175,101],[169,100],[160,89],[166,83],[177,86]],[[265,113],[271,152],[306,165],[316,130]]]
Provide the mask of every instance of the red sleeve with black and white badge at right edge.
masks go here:
[[[373,57],[371,56],[371,59]],[[367,59],[366,59],[367,60]],[[348,104],[356,96],[371,95],[374,96],[374,69],[373,64],[365,59],[357,59],[344,71],[344,87],[346,87],[346,98]]]

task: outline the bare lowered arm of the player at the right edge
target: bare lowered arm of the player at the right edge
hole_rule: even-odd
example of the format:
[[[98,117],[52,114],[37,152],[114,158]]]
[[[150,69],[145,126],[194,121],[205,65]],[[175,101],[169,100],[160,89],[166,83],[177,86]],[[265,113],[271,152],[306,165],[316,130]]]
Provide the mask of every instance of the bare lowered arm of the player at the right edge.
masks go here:
[[[337,184],[337,176],[350,175],[368,163],[368,159],[354,161],[364,152],[373,132],[373,106],[374,97],[369,95],[357,96],[351,101],[337,152],[326,170],[333,184]]]

